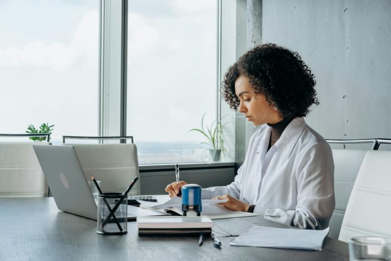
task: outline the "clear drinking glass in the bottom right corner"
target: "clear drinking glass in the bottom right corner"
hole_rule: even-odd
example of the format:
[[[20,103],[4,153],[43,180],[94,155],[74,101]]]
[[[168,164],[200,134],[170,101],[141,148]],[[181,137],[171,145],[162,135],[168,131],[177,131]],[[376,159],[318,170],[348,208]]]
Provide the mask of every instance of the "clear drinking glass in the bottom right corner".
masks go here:
[[[349,260],[391,260],[391,238],[351,238],[349,240]]]

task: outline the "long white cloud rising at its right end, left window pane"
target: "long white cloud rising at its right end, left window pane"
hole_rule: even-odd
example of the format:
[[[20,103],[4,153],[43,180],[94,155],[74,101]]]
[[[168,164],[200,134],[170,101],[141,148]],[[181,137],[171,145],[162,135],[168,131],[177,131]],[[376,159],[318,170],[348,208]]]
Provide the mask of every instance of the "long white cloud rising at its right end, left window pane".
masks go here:
[[[66,70],[77,59],[87,57],[95,60],[98,55],[98,11],[90,11],[77,25],[72,41],[68,44],[44,43],[35,40],[23,46],[0,49],[0,66],[4,67],[48,67],[52,70]],[[96,28],[96,30],[91,30]],[[95,59],[94,59],[95,58]]]

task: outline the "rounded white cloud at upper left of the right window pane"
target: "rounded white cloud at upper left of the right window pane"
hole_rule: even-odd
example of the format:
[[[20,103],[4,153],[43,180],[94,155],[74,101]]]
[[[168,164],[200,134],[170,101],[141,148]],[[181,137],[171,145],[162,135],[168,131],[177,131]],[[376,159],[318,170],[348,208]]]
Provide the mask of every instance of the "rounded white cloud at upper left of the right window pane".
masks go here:
[[[159,43],[159,31],[148,25],[137,14],[128,15],[128,57],[140,57],[153,53]]]

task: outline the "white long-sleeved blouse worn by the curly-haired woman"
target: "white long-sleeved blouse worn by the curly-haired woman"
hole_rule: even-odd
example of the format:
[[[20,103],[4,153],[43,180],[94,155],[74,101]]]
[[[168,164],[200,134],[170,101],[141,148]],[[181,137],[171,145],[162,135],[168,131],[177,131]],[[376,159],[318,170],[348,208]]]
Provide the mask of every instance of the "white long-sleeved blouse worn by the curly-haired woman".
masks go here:
[[[229,194],[255,204],[254,213],[298,228],[324,229],[335,207],[334,163],[328,143],[303,118],[293,119],[267,151],[271,127],[253,134],[243,165],[228,186],[202,197]]]

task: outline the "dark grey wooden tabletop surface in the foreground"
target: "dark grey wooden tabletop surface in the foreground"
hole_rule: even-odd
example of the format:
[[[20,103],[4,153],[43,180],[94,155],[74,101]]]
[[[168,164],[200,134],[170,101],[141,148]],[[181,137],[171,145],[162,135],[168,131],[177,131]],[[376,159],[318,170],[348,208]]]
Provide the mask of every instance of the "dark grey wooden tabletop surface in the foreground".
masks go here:
[[[214,220],[227,231],[253,224],[287,227],[261,217]],[[217,228],[216,227],[216,228]],[[230,230],[232,229],[232,230]],[[327,238],[322,251],[230,246],[232,237],[198,246],[194,237],[138,237],[96,233],[96,221],[59,211],[53,198],[0,198],[0,260],[348,260],[348,245]]]

